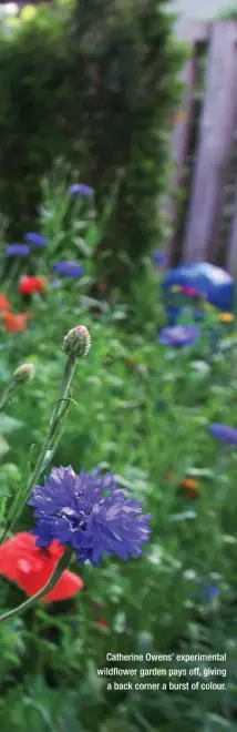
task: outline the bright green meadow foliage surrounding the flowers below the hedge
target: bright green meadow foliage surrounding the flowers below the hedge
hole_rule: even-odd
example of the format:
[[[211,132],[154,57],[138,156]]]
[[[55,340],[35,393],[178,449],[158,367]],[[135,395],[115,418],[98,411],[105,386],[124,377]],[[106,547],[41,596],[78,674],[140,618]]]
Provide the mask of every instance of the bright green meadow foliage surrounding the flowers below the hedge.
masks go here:
[[[31,728],[37,732],[234,732],[236,458],[231,449],[219,449],[208,426],[212,421],[236,425],[235,355],[230,350],[228,358],[212,357],[205,337],[185,353],[158,346],[155,314],[161,316],[161,306],[154,309],[158,282],[148,265],[141,291],[144,314],[134,286],[131,312],[115,298],[95,321],[82,285],[83,281],[75,281],[69,287],[62,281],[60,287],[49,288],[31,303],[34,318],[25,333],[1,333],[3,386],[25,358],[37,368],[34,380],[16,390],[4,411],[2,437],[7,436],[9,454],[1,484],[14,491],[27,457],[35,460],[65,360],[60,344],[81,322],[91,332],[92,348],[76,367],[54,462],[71,464],[76,470],[96,464],[113,469],[121,486],[145,500],[153,516],[152,541],[138,561],[122,565],[110,558],[96,570],[74,565],[73,571],[85,583],[75,600],[39,604],[22,620],[3,626],[0,728],[3,732]],[[137,281],[137,291],[141,287]],[[14,298],[19,308],[19,295]],[[216,315],[208,317],[214,324]],[[146,372],[141,372],[141,364]],[[192,502],[179,491],[186,475],[199,481],[198,497]],[[28,509],[16,531],[31,527]],[[209,602],[202,596],[197,599],[198,578],[218,584],[220,597]],[[1,610],[25,597],[3,578],[0,590]],[[95,611],[94,602],[101,609]],[[99,624],[100,619],[107,624]],[[109,691],[107,679],[97,674],[97,668],[120,665],[106,661],[109,652],[226,652],[228,690]]]

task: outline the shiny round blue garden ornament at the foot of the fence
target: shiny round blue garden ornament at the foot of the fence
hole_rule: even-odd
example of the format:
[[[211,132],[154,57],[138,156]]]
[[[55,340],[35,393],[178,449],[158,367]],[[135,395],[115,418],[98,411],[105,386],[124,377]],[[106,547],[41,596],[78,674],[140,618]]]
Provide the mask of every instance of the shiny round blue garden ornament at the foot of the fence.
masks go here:
[[[208,303],[221,312],[231,313],[235,305],[235,284],[233,277],[214,264],[197,262],[182,264],[168,270],[163,279],[163,297],[167,314],[169,291],[174,286],[193,287],[205,296]]]

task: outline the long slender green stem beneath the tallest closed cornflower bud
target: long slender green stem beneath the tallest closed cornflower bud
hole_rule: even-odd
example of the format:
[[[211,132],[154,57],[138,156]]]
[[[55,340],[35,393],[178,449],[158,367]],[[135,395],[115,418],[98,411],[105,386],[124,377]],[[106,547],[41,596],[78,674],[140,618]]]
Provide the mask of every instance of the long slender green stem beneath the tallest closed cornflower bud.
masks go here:
[[[39,455],[39,458],[37,460],[35,468],[32,472],[32,475],[29,478],[29,481],[27,484],[25,490],[21,494],[20,500],[18,499],[18,496],[16,496],[16,500],[13,501],[10,511],[9,511],[9,521],[7,522],[7,526],[4,527],[4,530],[2,532],[2,536],[0,538],[0,541],[4,541],[7,533],[12,529],[14,526],[28,497],[31,494],[32,488],[37,485],[37,481],[39,480],[42,469],[44,469],[45,466],[45,456],[47,453],[49,453],[51,443],[56,429],[56,426],[59,424],[59,420],[62,416],[64,406],[65,406],[65,399],[68,399],[69,396],[69,389],[70,389],[70,384],[74,374],[75,369],[75,358],[68,358],[66,364],[65,364],[65,369],[62,378],[62,385],[61,385],[61,390],[60,390],[60,397],[58,401],[55,403],[54,409],[52,411],[52,416],[50,419],[50,425],[48,429],[47,437],[44,439],[41,453]]]

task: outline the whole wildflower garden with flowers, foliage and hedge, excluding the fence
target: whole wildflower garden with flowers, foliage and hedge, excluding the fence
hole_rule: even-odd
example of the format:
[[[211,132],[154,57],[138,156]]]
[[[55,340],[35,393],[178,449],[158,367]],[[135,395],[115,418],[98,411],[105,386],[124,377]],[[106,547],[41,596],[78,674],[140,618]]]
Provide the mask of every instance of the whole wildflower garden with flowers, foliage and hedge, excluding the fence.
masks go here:
[[[165,254],[161,0],[0,33],[0,729],[237,720],[235,283]]]

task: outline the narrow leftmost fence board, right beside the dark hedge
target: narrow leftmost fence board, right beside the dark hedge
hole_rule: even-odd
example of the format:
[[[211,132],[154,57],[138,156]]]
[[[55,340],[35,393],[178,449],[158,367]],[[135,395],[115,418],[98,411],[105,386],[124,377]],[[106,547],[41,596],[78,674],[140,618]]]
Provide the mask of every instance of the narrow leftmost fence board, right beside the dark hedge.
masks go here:
[[[171,181],[172,193],[165,201],[164,213],[168,217],[169,225],[172,225],[173,230],[177,215],[175,193],[182,187],[192,128],[196,81],[196,43],[204,42],[208,39],[209,24],[199,20],[182,18],[176,24],[175,33],[179,41],[186,42],[189,45],[190,57],[179,74],[179,81],[184,84],[184,93],[171,140],[171,160],[174,165],[174,172]],[[173,245],[174,236],[172,234],[169,241],[166,242],[168,258],[173,254]]]

